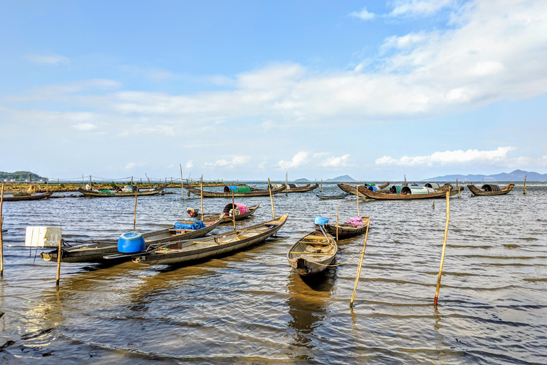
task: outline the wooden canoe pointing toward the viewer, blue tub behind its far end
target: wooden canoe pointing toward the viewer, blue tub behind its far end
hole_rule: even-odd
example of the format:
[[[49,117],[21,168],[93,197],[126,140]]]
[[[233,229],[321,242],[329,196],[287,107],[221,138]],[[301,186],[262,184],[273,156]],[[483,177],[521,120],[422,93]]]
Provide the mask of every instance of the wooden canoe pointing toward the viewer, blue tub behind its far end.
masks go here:
[[[288,250],[288,264],[301,276],[309,276],[322,272],[333,261],[338,245],[333,236],[321,226],[308,233]]]

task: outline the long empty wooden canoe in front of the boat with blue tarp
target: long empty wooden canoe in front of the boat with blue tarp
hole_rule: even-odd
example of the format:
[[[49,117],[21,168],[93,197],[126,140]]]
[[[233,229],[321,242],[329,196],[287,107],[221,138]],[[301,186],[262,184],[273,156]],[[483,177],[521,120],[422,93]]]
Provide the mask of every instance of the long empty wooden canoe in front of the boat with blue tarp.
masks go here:
[[[288,214],[285,214],[274,220],[200,240],[187,240],[162,245],[150,252],[132,255],[132,259],[133,262],[140,264],[187,264],[192,261],[226,255],[264,242],[283,227],[287,217]]]

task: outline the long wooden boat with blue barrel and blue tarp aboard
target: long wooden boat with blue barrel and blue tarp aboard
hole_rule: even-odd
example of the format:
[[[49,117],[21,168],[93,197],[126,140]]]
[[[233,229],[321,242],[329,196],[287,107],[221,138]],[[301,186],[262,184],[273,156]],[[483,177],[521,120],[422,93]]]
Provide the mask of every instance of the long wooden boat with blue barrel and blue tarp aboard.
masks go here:
[[[203,237],[207,233],[211,232],[222,221],[223,216],[219,215],[217,220],[213,222],[204,222],[206,227],[199,230],[176,230],[173,228],[166,228],[164,230],[157,230],[154,232],[143,233],[142,237],[145,239],[147,247],[153,247],[155,245],[162,245],[165,242],[180,241],[180,240],[192,240],[194,238]],[[186,222],[192,224],[192,220],[180,220],[179,222]],[[61,261],[62,262],[103,262],[105,256],[118,254],[118,240],[88,240],[88,241],[66,241],[63,240],[66,247],[61,247]],[[51,252],[42,252],[40,257],[46,261],[56,261],[58,250]],[[129,256],[119,255],[114,259],[130,259]],[[111,258],[112,259],[112,258]]]

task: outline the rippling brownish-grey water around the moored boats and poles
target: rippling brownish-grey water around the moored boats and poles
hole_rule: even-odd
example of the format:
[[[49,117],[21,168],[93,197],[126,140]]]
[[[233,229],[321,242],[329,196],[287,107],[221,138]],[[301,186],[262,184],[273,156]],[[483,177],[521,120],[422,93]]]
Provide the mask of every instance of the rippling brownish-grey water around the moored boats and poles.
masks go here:
[[[444,200],[360,202],[372,222],[353,309],[364,236],[340,241],[340,265],[316,279],[304,281],[286,259],[315,215],[333,222],[337,205],[341,220],[357,215],[349,197],[276,195],[276,215],[290,216],[262,245],[188,267],[63,264],[58,290],[56,263],[41,250],[35,259],[6,245],[23,245],[27,225],[61,226],[67,239],[119,237],[132,229],[134,200],[4,202],[1,363],[547,364],[546,187],[450,200],[437,309]],[[172,191],[138,201],[137,229],[199,207],[199,197],[182,202]],[[261,204],[244,225],[271,218],[269,197],[236,201]],[[205,210],[228,202],[205,199]]]

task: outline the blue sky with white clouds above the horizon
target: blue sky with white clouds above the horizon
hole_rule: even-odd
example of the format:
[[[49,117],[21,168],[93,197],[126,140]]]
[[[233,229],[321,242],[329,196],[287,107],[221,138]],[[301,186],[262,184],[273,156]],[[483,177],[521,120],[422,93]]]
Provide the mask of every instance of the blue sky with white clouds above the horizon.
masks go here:
[[[547,173],[547,1],[0,0],[0,170]]]

